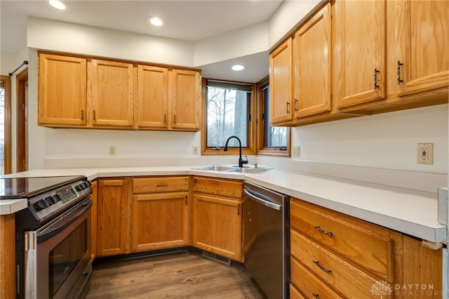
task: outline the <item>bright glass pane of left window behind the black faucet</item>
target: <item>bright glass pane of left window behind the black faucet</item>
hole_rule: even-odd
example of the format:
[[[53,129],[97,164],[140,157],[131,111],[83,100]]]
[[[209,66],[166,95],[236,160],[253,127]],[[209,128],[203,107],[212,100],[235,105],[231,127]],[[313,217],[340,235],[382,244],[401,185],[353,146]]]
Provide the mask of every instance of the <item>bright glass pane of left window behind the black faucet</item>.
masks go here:
[[[207,147],[224,147],[232,135],[248,147],[249,99],[248,91],[208,86]],[[233,138],[228,146],[237,147],[239,142]]]

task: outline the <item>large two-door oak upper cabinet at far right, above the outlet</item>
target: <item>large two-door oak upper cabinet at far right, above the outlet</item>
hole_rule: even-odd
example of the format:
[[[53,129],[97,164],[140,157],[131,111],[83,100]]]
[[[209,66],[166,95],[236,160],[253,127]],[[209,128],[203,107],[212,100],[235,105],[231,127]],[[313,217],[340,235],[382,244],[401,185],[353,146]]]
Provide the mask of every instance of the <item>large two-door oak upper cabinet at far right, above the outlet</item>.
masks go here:
[[[374,114],[448,102],[448,1],[337,0],[333,8],[338,112]]]

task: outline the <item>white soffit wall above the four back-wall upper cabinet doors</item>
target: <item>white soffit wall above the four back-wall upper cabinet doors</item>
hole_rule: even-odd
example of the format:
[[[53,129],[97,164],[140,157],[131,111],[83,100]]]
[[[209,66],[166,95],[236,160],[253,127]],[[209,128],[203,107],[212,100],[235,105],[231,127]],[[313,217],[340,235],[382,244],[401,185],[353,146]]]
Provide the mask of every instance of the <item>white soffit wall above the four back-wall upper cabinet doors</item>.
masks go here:
[[[167,65],[193,66],[194,44],[145,34],[28,17],[27,46]]]

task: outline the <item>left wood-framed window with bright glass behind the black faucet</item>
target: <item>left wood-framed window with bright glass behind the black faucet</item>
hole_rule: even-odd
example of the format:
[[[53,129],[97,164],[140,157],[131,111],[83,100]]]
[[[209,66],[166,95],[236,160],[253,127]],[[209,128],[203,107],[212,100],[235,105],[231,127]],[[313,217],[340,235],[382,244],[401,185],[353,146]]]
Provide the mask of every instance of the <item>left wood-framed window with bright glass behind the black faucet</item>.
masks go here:
[[[217,154],[214,150],[225,147],[227,138],[236,135],[241,140],[243,153],[254,154],[251,132],[252,84],[229,81],[207,80],[206,88],[206,152]],[[229,153],[239,142],[229,140]]]

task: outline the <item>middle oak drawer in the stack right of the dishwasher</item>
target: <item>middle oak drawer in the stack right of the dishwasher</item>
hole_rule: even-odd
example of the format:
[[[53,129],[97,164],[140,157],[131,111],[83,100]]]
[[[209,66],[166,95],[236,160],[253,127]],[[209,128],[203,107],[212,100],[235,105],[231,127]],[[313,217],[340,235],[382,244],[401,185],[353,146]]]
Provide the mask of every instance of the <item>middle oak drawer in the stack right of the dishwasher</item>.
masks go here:
[[[369,298],[377,281],[337,255],[294,230],[290,231],[290,252],[322,281],[347,298]]]

